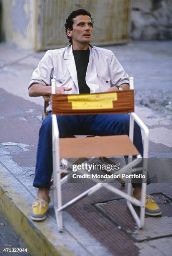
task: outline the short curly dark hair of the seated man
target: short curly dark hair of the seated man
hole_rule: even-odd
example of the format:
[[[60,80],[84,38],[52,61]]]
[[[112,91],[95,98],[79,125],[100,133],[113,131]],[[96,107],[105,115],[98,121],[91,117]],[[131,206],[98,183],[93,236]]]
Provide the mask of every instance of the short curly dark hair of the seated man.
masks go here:
[[[66,19],[66,23],[65,23],[65,32],[67,35],[67,28],[69,28],[70,30],[73,29],[73,18],[76,18],[78,15],[87,15],[90,17],[92,24],[94,23],[91,17],[91,14],[85,10],[85,9],[78,9],[73,11],[72,13],[70,13],[70,15],[67,17]],[[70,44],[72,44],[72,38],[70,36],[67,36],[67,38],[69,39]]]

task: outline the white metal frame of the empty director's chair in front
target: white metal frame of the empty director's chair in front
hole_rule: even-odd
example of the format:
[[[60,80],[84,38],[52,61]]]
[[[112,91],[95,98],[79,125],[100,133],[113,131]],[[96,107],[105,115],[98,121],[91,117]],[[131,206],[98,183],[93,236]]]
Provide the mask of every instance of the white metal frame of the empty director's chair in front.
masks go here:
[[[134,89],[133,77],[130,77],[130,89]],[[52,79],[52,94],[55,94],[55,80]],[[144,132],[144,153],[143,159],[148,158],[148,146],[149,146],[149,130],[147,126],[142,122],[142,120],[135,114],[130,113],[130,133],[129,137],[133,143],[133,133],[134,133],[134,121],[140,126],[142,131]],[[108,183],[97,183],[93,187],[87,189],[85,192],[81,193],[77,197],[73,198],[69,202],[62,205],[62,189],[61,186],[64,182],[67,182],[67,175],[60,178],[61,170],[60,170],[60,148],[59,148],[59,130],[57,125],[57,118],[55,114],[52,114],[52,152],[53,152],[53,179],[54,179],[54,209],[55,216],[57,220],[57,225],[59,232],[63,231],[63,220],[62,220],[62,211],[65,210],[70,205],[74,204],[78,200],[82,199],[85,196],[89,196],[101,187],[105,187],[106,189],[116,193],[117,195],[124,197],[127,200],[127,207],[129,208],[138,228],[144,227],[145,222],[145,199],[146,199],[146,183],[142,183],[141,189],[141,200],[137,200],[131,195],[131,182],[127,184],[127,193],[122,192],[120,189],[113,187]],[[137,158],[132,161],[132,155],[129,156],[129,164],[122,167],[119,171],[115,172],[115,174],[122,173],[131,173],[131,168],[137,165],[142,160],[142,156],[139,154]],[[63,164],[67,165],[67,161],[65,159],[61,159]],[[137,171],[136,169],[134,171]],[[83,172],[83,171],[82,171]],[[143,174],[147,174],[147,161],[143,161]],[[137,215],[132,204],[136,206],[140,206],[140,216]]]

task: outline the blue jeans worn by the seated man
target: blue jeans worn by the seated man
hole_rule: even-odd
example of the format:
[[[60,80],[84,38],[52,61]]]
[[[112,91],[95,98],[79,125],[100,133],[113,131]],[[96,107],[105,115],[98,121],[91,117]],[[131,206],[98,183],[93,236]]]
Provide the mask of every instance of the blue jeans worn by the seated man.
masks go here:
[[[75,134],[97,136],[129,134],[130,115],[57,115],[60,138]],[[135,123],[134,144],[143,155],[143,144],[140,127]],[[52,176],[52,117],[51,114],[43,121],[39,133],[37,163],[34,187],[50,188]],[[139,184],[133,184],[137,187]]]

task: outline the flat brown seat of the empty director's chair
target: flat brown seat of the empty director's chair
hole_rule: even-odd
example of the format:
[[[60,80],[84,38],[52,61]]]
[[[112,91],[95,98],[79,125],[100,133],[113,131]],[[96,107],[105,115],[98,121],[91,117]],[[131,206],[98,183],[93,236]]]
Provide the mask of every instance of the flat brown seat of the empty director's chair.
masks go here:
[[[92,156],[128,156],[138,154],[139,152],[127,135],[77,139],[60,138],[60,158],[89,158]]]

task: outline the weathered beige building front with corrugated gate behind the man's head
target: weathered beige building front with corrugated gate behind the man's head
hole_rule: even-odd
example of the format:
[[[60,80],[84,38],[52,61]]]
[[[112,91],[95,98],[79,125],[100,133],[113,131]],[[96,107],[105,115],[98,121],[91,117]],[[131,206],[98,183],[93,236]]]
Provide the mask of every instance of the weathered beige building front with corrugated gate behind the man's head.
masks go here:
[[[72,10],[92,14],[92,44],[112,45],[129,41],[131,0],[1,0],[2,35],[5,41],[36,51],[69,44],[64,23]]]

